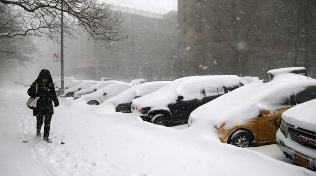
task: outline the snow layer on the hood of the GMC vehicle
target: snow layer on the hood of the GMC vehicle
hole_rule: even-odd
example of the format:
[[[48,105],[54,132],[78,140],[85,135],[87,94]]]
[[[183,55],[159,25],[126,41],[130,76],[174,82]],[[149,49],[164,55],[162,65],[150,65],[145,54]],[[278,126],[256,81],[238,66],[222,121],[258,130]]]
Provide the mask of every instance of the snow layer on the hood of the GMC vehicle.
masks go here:
[[[316,132],[316,99],[285,111],[282,119],[291,125]]]

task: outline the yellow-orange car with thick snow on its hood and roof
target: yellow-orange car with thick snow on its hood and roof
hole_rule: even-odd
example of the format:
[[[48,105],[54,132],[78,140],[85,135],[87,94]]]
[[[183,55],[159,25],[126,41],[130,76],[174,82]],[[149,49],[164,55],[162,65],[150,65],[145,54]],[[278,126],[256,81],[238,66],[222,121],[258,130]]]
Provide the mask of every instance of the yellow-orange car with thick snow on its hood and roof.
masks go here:
[[[316,93],[315,85],[316,79],[292,73],[277,75],[269,82],[256,81],[197,108],[190,114],[188,126],[214,126],[221,142],[237,147],[274,143],[281,114],[316,98],[306,93]]]

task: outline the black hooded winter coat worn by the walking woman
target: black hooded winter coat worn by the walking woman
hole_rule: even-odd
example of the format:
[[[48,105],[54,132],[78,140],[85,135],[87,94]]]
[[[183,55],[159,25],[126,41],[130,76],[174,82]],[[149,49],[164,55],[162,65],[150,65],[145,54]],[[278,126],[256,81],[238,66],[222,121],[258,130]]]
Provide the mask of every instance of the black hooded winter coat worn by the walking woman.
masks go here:
[[[48,82],[44,84],[42,79],[47,79]],[[36,93],[36,82],[38,83],[38,91]],[[28,89],[28,94],[31,97],[39,96],[40,99],[37,101],[36,108],[33,109],[33,116],[36,115],[52,115],[54,114],[53,103],[55,106],[59,105],[58,98],[55,93],[55,87],[53,85],[53,80],[48,70],[42,70],[38,79],[32,83],[31,87]]]

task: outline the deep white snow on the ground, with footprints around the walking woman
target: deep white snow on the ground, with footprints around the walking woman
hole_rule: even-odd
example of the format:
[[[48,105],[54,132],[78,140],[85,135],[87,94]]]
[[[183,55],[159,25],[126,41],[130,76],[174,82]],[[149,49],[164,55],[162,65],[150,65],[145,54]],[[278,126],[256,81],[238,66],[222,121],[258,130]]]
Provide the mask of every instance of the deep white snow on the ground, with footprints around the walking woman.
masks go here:
[[[316,176],[275,144],[238,148],[207,128],[158,126],[72,98],[59,99],[48,144],[35,136],[26,91],[0,88],[1,176]]]

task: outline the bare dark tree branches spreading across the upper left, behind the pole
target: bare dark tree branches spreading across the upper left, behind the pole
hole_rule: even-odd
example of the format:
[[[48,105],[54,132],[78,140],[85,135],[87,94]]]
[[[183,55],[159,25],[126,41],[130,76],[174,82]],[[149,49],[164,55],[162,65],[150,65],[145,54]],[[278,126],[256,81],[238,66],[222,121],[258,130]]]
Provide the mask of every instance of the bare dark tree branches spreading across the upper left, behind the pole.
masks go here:
[[[121,32],[121,15],[99,0],[0,0],[5,21],[0,26],[0,38],[33,35],[59,41],[61,11],[64,12],[64,33],[82,27],[94,40],[102,40],[107,49],[126,38]]]

